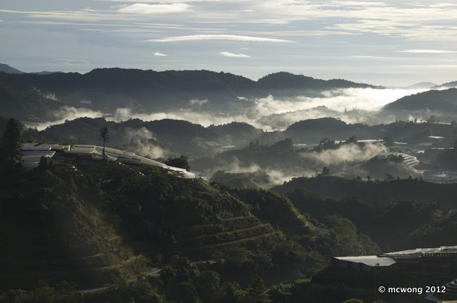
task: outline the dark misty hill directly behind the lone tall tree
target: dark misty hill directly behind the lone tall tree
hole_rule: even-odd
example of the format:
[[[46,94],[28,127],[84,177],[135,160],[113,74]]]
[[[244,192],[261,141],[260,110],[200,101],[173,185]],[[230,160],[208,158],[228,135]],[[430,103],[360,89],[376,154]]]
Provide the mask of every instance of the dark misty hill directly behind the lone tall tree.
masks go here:
[[[248,145],[253,138],[263,133],[246,123],[229,123],[211,125],[207,128],[185,120],[126,120],[116,123],[105,118],[77,118],[64,124],[53,125],[41,132],[27,131],[24,138],[37,142],[41,138],[84,138],[91,144],[99,143],[99,129],[109,128],[111,147],[121,147],[134,151],[139,155],[152,158],[168,157],[169,155],[211,155],[224,150],[224,145]]]

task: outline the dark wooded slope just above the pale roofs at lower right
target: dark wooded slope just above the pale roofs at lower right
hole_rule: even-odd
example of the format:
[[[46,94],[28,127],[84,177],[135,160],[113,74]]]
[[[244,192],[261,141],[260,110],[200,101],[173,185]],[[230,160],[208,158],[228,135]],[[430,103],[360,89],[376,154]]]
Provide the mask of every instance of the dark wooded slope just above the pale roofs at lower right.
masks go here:
[[[288,192],[287,196],[299,210],[308,212],[317,220],[330,214],[347,217],[383,252],[453,245],[453,235],[457,232],[457,212],[436,202],[411,199],[367,202],[354,196],[333,200],[301,189]]]

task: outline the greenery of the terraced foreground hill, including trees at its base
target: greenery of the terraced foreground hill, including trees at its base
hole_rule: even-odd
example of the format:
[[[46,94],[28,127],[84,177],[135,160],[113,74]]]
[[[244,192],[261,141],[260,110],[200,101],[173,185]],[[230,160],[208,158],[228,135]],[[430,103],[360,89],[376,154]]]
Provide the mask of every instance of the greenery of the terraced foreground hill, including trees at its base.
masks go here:
[[[93,173],[104,180],[95,183],[89,173],[42,158],[39,167],[14,172],[1,185],[2,290],[28,289],[10,290],[9,298],[269,302],[291,294],[268,289],[263,280],[278,284],[284,272],[322,267],[334,253],[378,252],[348,220],[326,218],[322,224],[335,232],[321,235],[290,200],[266,190],[109,161]],[[125,282],[157,266],[160,279]],[[105,283],[116,286],[94,294],[71,290]]]

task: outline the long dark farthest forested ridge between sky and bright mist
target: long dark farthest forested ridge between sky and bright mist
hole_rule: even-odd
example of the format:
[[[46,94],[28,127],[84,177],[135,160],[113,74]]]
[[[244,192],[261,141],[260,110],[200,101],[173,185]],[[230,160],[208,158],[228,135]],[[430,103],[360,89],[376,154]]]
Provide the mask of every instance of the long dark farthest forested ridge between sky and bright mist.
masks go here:
[[[214,71],[144,71],[123,68],[96,68],[85,74],[0,72],[0,81],[23,91],[38,88],[56,94],[66,103],[91,99],[96,108],[114,109],[119,106],[143,108],[176,108],[189,106],[193,98],[208,98],[212,106],[228,108],[228,103],[240,103],[238,96],[263,98],[273,93],[303,94],[347,87],[373,87],[343,80],[318,80],[291,73],[275,73],[252,81],[243,76]],[[217,106],[216,106],[217,108]]]

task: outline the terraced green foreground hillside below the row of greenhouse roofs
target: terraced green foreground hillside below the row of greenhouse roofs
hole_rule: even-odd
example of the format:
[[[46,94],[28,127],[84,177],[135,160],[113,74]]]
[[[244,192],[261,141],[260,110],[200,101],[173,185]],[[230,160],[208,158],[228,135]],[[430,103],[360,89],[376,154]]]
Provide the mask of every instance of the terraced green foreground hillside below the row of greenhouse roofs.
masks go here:
[[[96,287],[145,273],[177,253],[208,260],[268,247],[282,256],[282,243],[291,241],[283,232],[313,233],[291,202],[273,192],[231,191],[147,166],[77,167],[42,160],[2,180],[1,290],[37,279]],[[96,184],[92,175],[105,181]],[[283,262],[292,266],[296,259]]]

